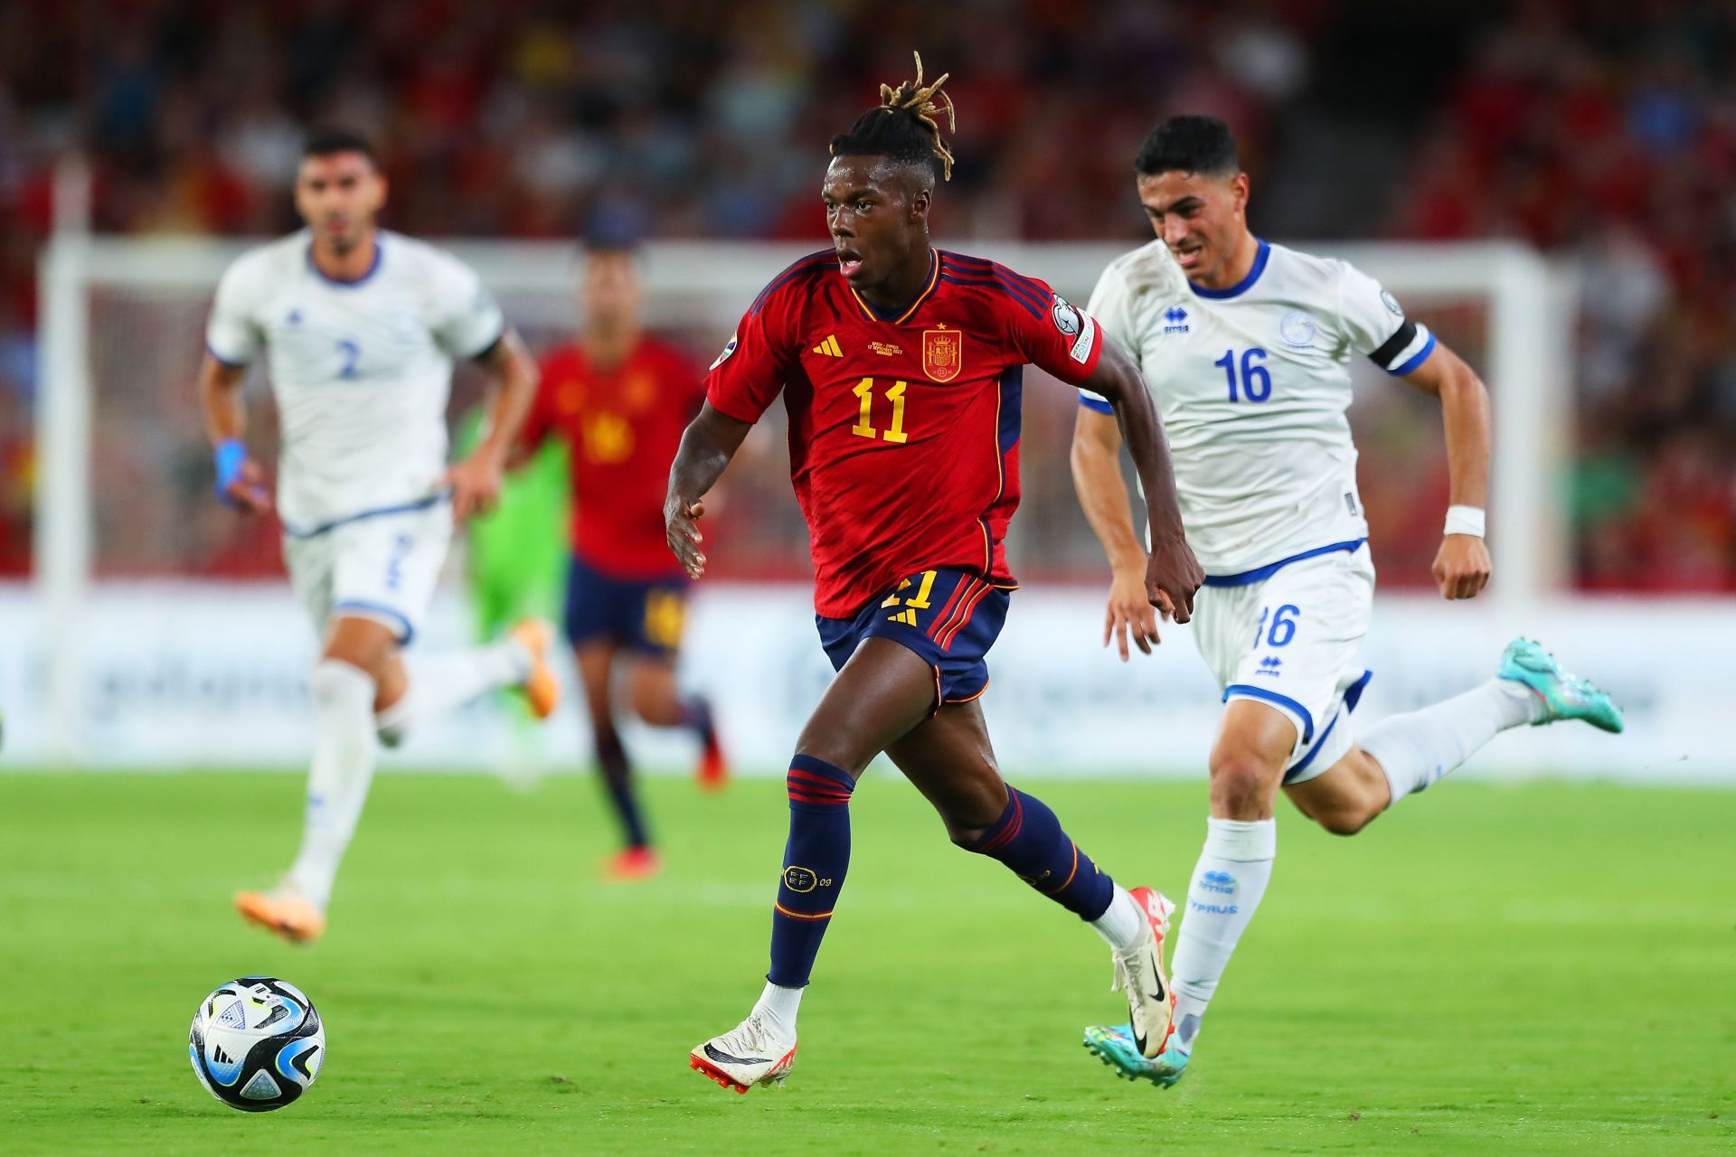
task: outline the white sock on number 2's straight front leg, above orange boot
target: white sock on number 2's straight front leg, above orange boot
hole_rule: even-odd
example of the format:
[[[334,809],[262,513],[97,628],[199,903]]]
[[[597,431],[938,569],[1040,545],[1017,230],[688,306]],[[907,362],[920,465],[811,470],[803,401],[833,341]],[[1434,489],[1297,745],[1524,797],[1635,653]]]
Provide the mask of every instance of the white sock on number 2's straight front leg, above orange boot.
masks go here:
[[[307,677],[314,699],[314,758],[307,768],[302,850],[290,883],[325,911],[332,881],[356,834],[373,781],[373,677],[337,659],[321,659]]]

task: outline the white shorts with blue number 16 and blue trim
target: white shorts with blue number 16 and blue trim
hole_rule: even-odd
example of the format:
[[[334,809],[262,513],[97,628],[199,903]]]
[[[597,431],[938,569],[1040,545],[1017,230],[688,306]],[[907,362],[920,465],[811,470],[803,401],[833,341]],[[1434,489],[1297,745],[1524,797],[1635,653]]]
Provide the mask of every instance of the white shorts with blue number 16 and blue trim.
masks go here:
[[[1264,571],[1264,569],[1262,569]],[[1257,699],[1297,725],[1285,782],[1314,779],[1351,749],[1340,720],[1356,708],[1371,671],[1363,637],[1375,598],[1368,543],[1262,571],[1234,586],[1201,586],[1194,642],[1224,703]]]

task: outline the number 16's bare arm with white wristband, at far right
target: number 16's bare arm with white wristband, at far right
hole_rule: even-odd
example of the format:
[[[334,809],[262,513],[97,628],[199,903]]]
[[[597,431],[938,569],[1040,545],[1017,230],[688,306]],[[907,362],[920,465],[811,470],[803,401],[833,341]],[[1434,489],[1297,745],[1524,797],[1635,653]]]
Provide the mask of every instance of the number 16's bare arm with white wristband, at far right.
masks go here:
[[[1448,503],[1481,513],[1489,493],[1488,389],[1476,369],[1446,345],[1436,345],[1417,369],[1404,375],[1404,382],[1441,401]],[[1481,519],[1477,522],[1479,526],[1465,526],[1467,533],[1453,533],[1458,524],[1453,517],[1448,519],[1448,533],[1434,557],[1434,581],[1443,598],[1474,598],[1489,583],[1489,550],[1483,541]]]

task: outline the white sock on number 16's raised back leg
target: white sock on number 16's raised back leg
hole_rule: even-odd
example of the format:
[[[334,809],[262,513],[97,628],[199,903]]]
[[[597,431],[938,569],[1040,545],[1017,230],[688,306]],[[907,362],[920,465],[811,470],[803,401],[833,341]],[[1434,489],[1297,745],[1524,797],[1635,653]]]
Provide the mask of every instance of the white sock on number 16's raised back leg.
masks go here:
[[[1392,788],[1392,807],[1422,791],[1509,727],[1542,718],[1543,701],[1524,683],[1491,678],[1420,711],[1384,718],[1358,737]]]

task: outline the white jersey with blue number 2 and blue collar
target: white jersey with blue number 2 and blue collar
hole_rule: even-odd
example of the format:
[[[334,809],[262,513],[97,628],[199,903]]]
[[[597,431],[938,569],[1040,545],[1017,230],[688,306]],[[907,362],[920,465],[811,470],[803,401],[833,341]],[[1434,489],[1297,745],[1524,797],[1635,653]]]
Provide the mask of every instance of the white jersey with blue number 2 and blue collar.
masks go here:
[[[378,231],[373,267],[337,281],[314,267],[311,243],[302,231],[236,258],[205,333],[231,366],[266,352],[292,536],[432,501],[453,359],[486,352],[505,328],[477,276],[432,245]]]

